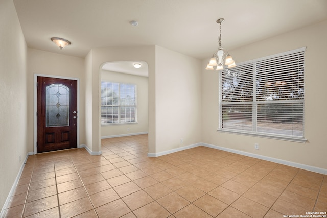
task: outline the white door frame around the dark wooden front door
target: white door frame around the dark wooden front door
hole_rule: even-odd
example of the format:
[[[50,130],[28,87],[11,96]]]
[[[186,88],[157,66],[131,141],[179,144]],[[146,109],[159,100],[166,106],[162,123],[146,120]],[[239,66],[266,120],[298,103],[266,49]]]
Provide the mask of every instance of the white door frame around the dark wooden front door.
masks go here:
[[[47,74],[34,74],[34,110],[33,110],[33,122],[34,122],[34,139],[33,139],[33,147],[34,154],[37,154],[37,77],[52,77],[58,79],[66,79],[66,80],[77,80],[77,112],[80,112],[80,79],[74,77],[62,77],[56,75],[47,75]],[[80,114],[81,115],[81,114]],[[79,148],[80,144],[80,115],[77,116],[77,148]]]

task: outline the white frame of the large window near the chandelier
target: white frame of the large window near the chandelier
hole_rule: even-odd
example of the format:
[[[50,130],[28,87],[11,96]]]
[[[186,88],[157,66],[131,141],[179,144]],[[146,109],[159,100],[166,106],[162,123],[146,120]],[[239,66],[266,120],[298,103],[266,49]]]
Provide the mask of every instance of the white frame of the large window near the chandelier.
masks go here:
[[[266,104],[268,101],[258,101],[256,96],[259,95],[257,92],[257,71],[256,71],[256,63],[260,62],[260,61],[264,61],[264,60],[268,60],[268,59],[272,59],[272,58],[276,58],[276,57],[282,57],[285,55],[290,55],[290,54],[295,54],[295,53],[303,53],[303,58],[304,58],[304,54],[306,51],[306,47],[301,47],[300,49],[295,49],[295,50],[291,50],[288,52],[283,52],[283,53],[279,53],[279,54],[275,54],[275,55],[270,55],[270,56],[266,56],[266,57],[262,57],[262,58],[258,58],[258,59],[254,59],[254,60],[250,60],[250,61],[246,61],[246,62],[242,62],[238,64],[238,67],[242,67],[242,66],[247,66],[247,65],[251,65],[252,64],[252,88],[251,90],[252,92],[252,101],[239,101],[239,102],[227,102],[224,103],[222,100],[222,88],[223,88],[223,84],[222,84],[222,72],[225,72],[228,69],[223,69],[223,70],[219,70],[219,79],[218,79],[218,96],[219,96],[219,102],[218,102],[218,132],[225,132],[225,133],[232,133],[232,134],[240,134],[240,135],[250,135],[250,136],[255,136],[255,137],[264,137],[264,138],[273,138],[273,139],[280,139],[280,140],[287,140],[287,141],[295,141],[295,142],[301,142],[301,143],[305,143],[307,141],[307,139],[305,139],[305,98],[304,98],[304,79],[303,79],[303,99],[302,100],[287,100],[287,101],[271,101],[269,103],[283,103],[283,102],[294,102],[294,103],[298,103],[301,102],[302,105],[302,136],[294,136],[294,135],[284,135],[284,134],[275,134],[275,133],[262,133],[262,132],[258,132],[257,129],[257,124],[258,124],[258,111],[257,111],[257,106],[258,104],[262,104],[263,102],[265,102],[264,104]],[[304,67],[304,59],[303,59],[303,67]],[[231,69],[232,70],[232,69]],[[303,70],[303,74],[305,74],[304,70]],[[304,77],[304,76],[303,76]],[[269,104],[268,103],[268,104]],[[251,104],[252,105],[252,117],[251,117],[251,122],[252,122],[252,126],[251,126],[251,130],[239,130],[239,129],[232,129],[232,128],[223,128],[222,124],[223,124],[223,105],[237,105],[237,104]]]

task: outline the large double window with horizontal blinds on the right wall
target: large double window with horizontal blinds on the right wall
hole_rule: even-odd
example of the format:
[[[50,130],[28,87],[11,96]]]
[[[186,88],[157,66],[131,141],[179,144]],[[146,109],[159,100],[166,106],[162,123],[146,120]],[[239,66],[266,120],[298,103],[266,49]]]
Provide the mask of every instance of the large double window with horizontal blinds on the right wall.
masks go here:
[[[305,48],[225,69],[219,75],[219,131],[304,139]]]

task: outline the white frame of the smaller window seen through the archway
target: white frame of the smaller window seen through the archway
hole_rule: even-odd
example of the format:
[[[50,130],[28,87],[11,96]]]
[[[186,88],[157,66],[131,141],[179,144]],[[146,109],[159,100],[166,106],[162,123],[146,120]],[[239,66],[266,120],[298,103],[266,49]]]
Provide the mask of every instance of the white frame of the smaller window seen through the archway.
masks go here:
[[[106,84],[115,84],[115,85],[118,85],[118,93],[117,93],[117,102],[118,104],[103,104],[102,103],[102,95],[103,95],[103,92],[102,92],[102,88],[103,88],[103,83],[106,83]],[[135,104],[132,104],[132,105],[125,105],[125,104],[122,104],[121,102],[121,95],[122,95],[122,91],[121,91],[121,86],[122,85],[130,85],[130,86],[134,86],[134,103]],[[106,86],[108,87],[108,85]],[[125,82],[113,82],[113,81],[105,81],[105,80],[102,80],[101,81],[101,91],[100,91],[100,123],[101,123],[101,126],[107,126],[107,125],[125,125],[125,124],[137,124],[137,85],[136,84],[132,84],[132,83],[125,83]],[[117,107],[118,109],[118,117],[117,117],[117,120],[118,122],[103,122],[103,119],[102,119],[102,107]],[[123,108],[134,108],[134,121],[128,121],[128,122],[122,122],[121,120],[121,110]],[[106,120],[108,120],[108,114],[106,115]]]

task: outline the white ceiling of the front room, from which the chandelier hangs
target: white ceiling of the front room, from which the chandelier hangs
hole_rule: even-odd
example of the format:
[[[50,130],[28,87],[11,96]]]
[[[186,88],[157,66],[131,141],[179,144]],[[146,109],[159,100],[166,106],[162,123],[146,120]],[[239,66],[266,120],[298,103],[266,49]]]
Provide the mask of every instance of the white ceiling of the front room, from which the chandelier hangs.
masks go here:
[[[327,20],[326,0],[13,1],[28,47],[76,57],[95,47],[159,45],[205,59],[218,48],[218,18],[227,51]],[[59,50],[51,37],[72,44]]]

